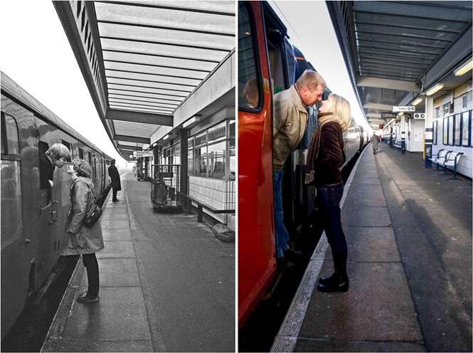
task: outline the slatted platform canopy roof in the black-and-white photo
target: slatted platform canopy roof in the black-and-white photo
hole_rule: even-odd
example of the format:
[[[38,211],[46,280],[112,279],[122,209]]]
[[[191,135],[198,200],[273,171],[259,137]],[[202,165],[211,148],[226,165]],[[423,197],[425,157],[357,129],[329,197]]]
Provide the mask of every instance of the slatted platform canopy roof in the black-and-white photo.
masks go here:
[[[234,1],[54,1],[107,134],[147,148],[235,48]]]

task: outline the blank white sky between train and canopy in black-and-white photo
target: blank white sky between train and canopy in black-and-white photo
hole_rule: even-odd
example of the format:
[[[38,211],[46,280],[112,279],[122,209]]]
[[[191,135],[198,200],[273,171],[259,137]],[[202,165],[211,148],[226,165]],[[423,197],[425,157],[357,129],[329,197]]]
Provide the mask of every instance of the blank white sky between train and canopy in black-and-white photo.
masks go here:
[[[3,1],[0,68],[70,127],[117,159],[52,1]]]

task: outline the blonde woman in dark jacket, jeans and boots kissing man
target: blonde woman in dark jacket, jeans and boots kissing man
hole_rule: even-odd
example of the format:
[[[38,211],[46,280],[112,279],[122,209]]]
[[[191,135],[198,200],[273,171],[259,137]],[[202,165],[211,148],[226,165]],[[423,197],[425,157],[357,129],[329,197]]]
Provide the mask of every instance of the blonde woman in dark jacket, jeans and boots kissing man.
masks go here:
[[[320,278],[317,289],[346,292],[349,290],[347,247],[341,226],[340,201],[344,192],[341,166],[346,159],[343,132],[348,130],[351,120],[349,102],[339,95],[329,95],[319,108],[318,120],[319,127],[312,135],[307,154],[305,182],[316,186],[320,219],[334,259],[334,274]]]

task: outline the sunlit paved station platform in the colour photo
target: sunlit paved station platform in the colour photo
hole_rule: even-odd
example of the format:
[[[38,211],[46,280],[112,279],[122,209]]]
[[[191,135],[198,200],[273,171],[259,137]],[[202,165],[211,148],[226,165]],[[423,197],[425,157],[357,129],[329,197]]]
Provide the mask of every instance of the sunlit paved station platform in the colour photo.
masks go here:
[[[272,352],[471,352],[472,182],[368,146],[346,182],[348,293],[320,293],[325,236]]]

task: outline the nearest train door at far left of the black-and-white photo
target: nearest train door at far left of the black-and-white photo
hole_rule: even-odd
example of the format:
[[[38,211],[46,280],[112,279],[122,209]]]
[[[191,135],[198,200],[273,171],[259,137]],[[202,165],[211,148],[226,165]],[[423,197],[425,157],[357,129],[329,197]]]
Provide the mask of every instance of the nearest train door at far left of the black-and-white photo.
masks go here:
[[[18,125],[1,112],[1,338],[23,309],[31,240],[23,238]],[[28,248],[28,246],[30,246]]]

